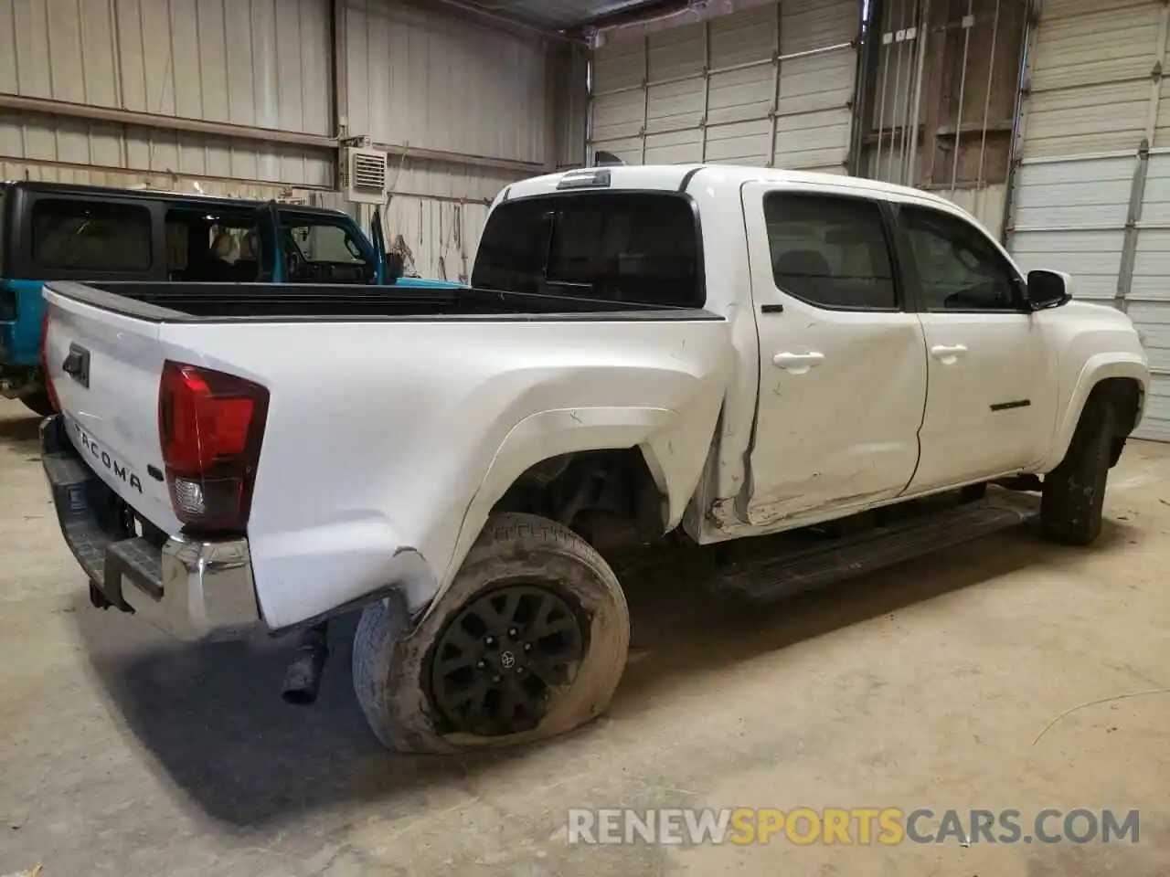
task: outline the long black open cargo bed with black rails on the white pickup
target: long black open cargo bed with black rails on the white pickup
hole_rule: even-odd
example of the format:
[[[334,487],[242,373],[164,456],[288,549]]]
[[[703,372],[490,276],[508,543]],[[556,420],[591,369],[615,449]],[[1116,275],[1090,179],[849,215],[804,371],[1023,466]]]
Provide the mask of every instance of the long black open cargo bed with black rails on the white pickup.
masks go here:
[[[55,282],[54,292],[158,323],[249,320],[721,319],[700,309],[580,295],[483,289],[394,289],[344,284]]]

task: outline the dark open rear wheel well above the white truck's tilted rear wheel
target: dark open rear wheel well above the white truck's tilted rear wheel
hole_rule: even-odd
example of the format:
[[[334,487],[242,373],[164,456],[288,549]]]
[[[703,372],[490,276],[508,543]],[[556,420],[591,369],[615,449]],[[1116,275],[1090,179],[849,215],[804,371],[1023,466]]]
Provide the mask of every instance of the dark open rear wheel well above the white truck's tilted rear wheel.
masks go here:
[[[638,448],[560,454],[521,475],[493,512],[559,522],[596,548],[662,536],[662,493]]]

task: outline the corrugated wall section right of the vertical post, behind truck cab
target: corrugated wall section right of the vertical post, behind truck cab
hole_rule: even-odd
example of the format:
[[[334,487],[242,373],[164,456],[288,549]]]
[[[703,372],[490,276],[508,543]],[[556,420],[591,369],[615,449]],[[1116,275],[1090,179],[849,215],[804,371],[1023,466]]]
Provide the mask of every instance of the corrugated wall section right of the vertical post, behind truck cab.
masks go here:
[[[345,44],[346,133],[405,152],[390,158],[388,241],[422,276],[466,278],[490,200],[556,164],[562,102],[549,78],[563,53],[388,0],[347,0]],[[584,132],[583,108],[577,123]],[[563,111],[559,124],[570,124]],[[415,158],[412,150],[484,160]],[[359,215],[367,223],[370,209]]]

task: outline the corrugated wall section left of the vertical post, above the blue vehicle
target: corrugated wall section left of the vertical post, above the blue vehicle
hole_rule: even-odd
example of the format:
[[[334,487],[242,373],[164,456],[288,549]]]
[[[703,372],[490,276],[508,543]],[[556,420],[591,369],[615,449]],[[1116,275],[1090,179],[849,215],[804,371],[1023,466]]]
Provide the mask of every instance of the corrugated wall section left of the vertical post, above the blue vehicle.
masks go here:
[[[0,0],[7,95],[329,134],[329,58],[324,0]],[[333,164],[291,144],[0,110],[8,177],[84,180],[94,166],[102,181],[329,186]]]

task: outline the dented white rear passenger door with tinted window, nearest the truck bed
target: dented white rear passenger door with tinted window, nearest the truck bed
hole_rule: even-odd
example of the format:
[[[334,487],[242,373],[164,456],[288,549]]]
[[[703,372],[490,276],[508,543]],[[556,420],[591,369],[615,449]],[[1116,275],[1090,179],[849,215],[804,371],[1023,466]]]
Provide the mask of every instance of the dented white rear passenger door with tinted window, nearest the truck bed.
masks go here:
[[[927,355],[878,201],[744,187],[759,334],[749,522],[827,519],[896,497],[918,462]]]

